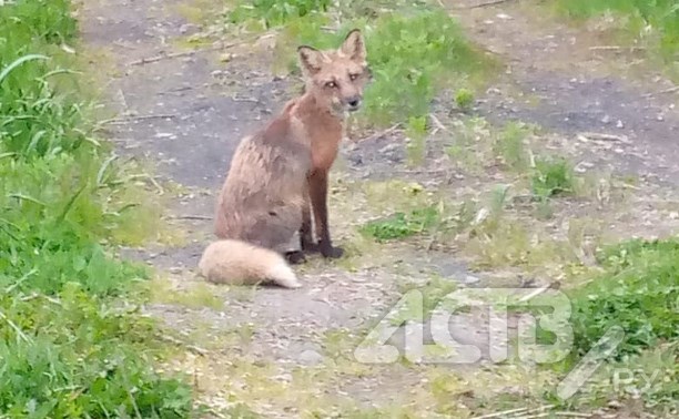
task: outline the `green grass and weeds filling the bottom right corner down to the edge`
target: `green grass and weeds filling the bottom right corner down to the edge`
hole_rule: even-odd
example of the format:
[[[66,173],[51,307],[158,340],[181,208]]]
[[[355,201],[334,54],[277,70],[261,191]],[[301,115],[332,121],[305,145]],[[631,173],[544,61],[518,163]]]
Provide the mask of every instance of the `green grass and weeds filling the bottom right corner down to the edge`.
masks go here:
[[[576,409],[640,399],[648,412],[675,417],[679,408],[679,241],[626,241],[604,247],[597,258],[602,273],[566,290],[572,310],[572,349],[564,361],[549,367],[568,374],[611,328],[620,328],[622,339],[571,399],[553,398],[549,391],[546,397]],[[538,336],[550,341],[546,335]]]

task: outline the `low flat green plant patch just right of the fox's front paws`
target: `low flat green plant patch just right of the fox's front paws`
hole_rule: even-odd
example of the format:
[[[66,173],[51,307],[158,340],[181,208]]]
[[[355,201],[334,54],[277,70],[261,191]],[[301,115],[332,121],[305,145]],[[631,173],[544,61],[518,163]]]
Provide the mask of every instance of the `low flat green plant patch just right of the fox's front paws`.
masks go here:
[[[435,207],[413,209],[409,213],[396,213],[387,218],[372,221],[361,228],[361,233],[378,242],[402,239],[422,234],[439,221]]]

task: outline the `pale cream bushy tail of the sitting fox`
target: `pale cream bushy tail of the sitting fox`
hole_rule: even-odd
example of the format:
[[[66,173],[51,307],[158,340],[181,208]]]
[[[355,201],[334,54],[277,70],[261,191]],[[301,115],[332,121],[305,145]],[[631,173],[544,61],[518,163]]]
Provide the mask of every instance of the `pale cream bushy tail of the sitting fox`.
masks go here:
[[[302,286],[281,254],[236,239],[211,243],[203,252],[199,272],[215,284],[274,283],[286,288]]]

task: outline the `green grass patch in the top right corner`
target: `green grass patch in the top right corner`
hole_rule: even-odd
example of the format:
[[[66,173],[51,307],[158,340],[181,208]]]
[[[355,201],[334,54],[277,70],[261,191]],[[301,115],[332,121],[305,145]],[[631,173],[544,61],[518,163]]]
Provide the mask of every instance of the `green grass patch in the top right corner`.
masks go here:
[[[578,20],[614,12],[636,39],[650,38],[667,63],[678,58],[679,3],[676,0],[556,0],[554,4],[558,12]],[[643,34],[647,27],[650,33]]]

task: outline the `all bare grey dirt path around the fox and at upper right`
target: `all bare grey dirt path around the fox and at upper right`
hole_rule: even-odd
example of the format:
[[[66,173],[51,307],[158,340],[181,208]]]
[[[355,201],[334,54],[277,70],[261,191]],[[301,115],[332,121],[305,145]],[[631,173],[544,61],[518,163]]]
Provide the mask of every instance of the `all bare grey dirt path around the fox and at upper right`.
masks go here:
[[[161,175],[183,188],[173,200],[172,213],[188,242],[131,251],[168,273],[149,311],[199,354],[186,354],[176,368],[194,372],[196,387],[213,407],[243,402],[266,417],[297,417],[301,409],[326,417],[384,408],[389,401],[401,408],[438,403],[432,382],[446,369],[362,365],[352,360],[351,351],[356,330],[384,315],[407,284],[426,284],[434,274],[444,283],[484,284],[486,278],[469,274],[462,259],[401,245],[371,248],[368,254],[349,244],[346,260],[313,259],[301,267],[305,287],[300,292],[229,290],[194,278],[197,258],[212,238],[209,218],[234,147],[244,133],[277,112],[297,85],[273,76],[267,57],[250,44],[230,49],[227,62],[221,60],[222,51],[142,62],[181,51],[182,42],[197,30],[182,17],[182,3],[97,0],[87,3],[82,19],[90,48],[111,61],[110,67],[102,63],[102,72],[111,75],[110,105],[122,113],[122,122],[110,126],[113,140],[125,153],[158,162]],[[572,53],[587,47],[571,42],[571,30],[545,31],[513,4],[457,13],[478,40],[513,62],[511,73],[480,98],[482,114],[491,121],[535,122],[560,133],[589,166],[621,168],[655,187],[679,184],[679,166],[672,164],[679,159],[678,110],[670,95],[642,95],[661,85],[649,90],[643,82],[600,75],[601,67],[590,65],[589,55]],[[591,144],[574,140],[581,131],[624,134],[631,143],[619,144],[621,151],[600,147],[592,153]],[[331,223],[340,243],[352,236],[367,205],[353,182],[389,177],[398,172],[394,167],[403,167],[402,139],[395,135],[343,151],[331,196]],[[413,178],[424,177],[411,173],[405,180]],[[446,182],[459,191],[477,186],[457,177]],[[487,331],[473,328],[460,325],[456,335],[460,341],[484,346]],[[516,381],[478,374],[488,375],[489,387],[516,387]],[[533,377],[530,369],[520,374]],[[464,394],[468,384],[460,378],[446,386]]]

